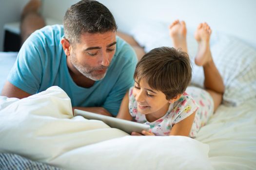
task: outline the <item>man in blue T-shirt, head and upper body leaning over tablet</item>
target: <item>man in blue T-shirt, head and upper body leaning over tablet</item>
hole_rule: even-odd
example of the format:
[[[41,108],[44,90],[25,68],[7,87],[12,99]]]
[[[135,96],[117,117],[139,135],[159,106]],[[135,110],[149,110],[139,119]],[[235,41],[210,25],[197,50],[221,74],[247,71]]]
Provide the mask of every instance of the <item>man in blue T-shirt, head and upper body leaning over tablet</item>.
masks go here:
[[[104,5],[79,1],[67,10],[63,26],[46,26],[24,42],[1,95],[21,99],[58,85],[73,109],[116,116],[137,63],[116,32]]]

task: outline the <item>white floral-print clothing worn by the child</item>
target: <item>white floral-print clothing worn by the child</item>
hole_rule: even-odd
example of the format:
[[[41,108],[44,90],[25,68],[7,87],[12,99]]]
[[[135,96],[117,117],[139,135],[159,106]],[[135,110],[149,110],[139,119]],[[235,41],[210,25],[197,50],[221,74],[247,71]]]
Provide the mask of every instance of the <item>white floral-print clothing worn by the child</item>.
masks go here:
[[[187,91],[199,99],[199,105]],[[197,112],[189,135],[191,137],[196,137],[200,127],[213,114],[213,100],[209,93],[197,87],[188,87],[178,101],[170,104],[167,113],[162,118],[149,122],[146,116],[137,110],[137,102],[133,96],[133,87],[129,90],[129,112],[131,116],[139,123],[150,125],[150,131],[157,136],[168,136],[174,124],[187,118],[195,111]]]

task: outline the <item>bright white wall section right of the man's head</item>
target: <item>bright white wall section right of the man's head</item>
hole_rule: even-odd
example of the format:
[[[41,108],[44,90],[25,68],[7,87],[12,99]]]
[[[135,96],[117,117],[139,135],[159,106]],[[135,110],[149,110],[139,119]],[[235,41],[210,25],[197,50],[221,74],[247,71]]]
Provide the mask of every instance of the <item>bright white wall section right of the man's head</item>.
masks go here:
[[[197,27],[206,21],[213,31],[235,35],[256,48],[256,0],[99,0],[129,32],[144,19],[171,23],[179,18]]]

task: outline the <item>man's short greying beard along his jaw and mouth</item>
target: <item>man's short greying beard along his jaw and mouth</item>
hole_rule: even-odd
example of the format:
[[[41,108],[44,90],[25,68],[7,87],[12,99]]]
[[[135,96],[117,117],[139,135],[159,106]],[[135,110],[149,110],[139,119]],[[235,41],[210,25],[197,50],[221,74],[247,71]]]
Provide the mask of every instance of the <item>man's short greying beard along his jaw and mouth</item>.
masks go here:
[[[77,60],[77,57],[75,54],[73,55],[70,55],[70,61],[71,61],[71,64],[77,68],[77,70],[79,70],[79,72],[81,74],[83,74],[85,77],[93,80],[93,81],[98,81],[98,80],[101,80],[105,77],[106,73],[107,73],[107,68],[108,67],[105,67],[105,66],[100,66],[100,67],[90,67],[88,65],[85,65],[85,66],[82,66],[78,60]],[[106,70],[105,73],[103,74],[97,74],[95,73],[95,71],[98,71],[98,70]]]

